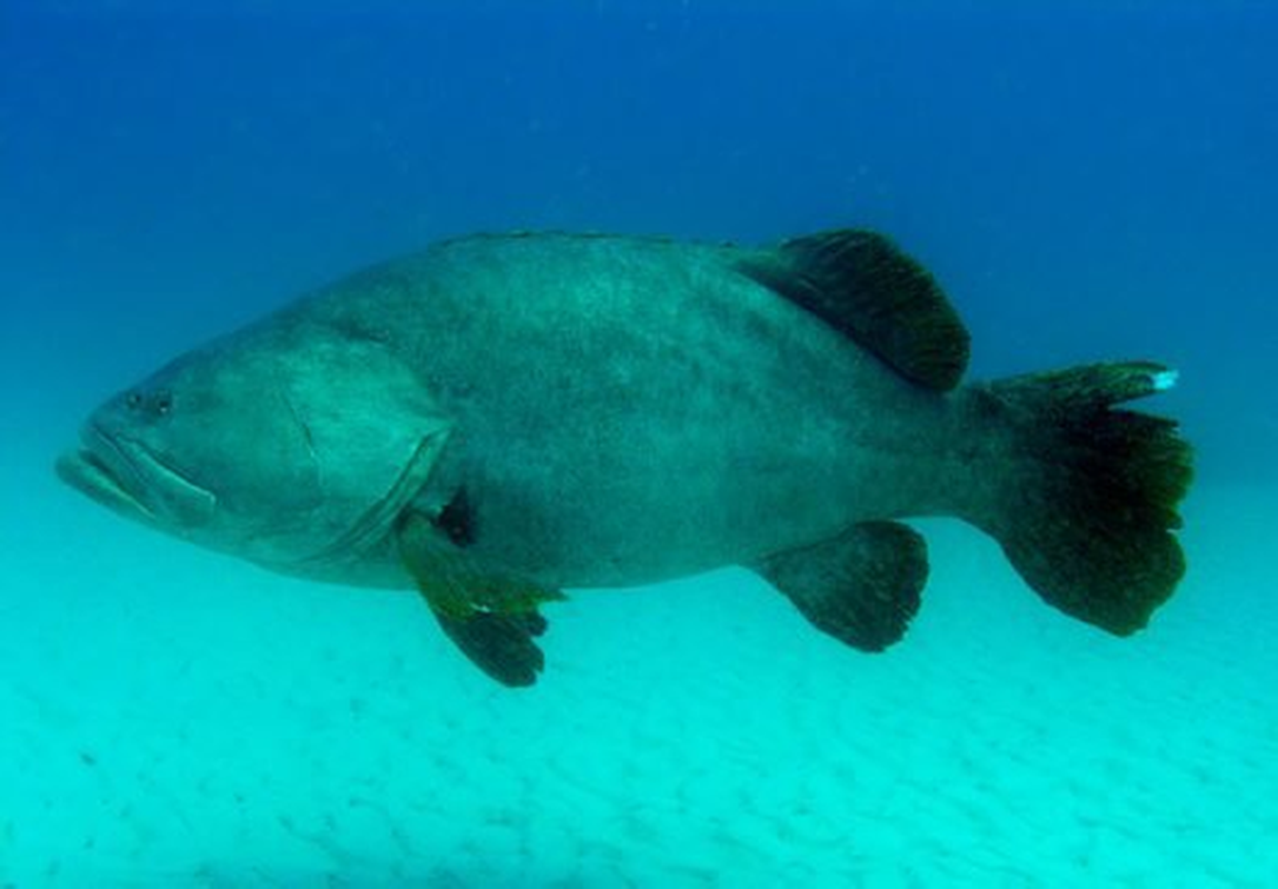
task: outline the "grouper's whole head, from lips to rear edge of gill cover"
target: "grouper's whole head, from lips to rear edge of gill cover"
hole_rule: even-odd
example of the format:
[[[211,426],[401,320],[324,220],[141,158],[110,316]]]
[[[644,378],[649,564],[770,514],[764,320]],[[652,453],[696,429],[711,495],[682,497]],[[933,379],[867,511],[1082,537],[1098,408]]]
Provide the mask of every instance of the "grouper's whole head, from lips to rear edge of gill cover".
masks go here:
[[[432,406],[380,344],[250,331],[110,397],[58,473],[121,516],[296,572],[385,536],[437,453]]]

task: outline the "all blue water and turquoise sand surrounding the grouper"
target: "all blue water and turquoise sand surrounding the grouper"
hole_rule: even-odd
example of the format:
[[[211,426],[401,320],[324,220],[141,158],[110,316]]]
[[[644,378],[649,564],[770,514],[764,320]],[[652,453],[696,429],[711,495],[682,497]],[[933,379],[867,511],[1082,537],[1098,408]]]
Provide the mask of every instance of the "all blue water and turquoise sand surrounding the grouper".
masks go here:
[[[1278,885],[1278,5],[0,0],[0,886]],[[863,655],[744,571],[553,608],[496,686],[417,595],[124,522],[112,391],[474,230],[881,229],[973,376],[1154,358],[1199,478],[1149,630],[915,522]]]

